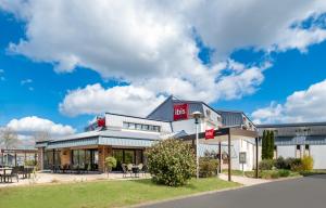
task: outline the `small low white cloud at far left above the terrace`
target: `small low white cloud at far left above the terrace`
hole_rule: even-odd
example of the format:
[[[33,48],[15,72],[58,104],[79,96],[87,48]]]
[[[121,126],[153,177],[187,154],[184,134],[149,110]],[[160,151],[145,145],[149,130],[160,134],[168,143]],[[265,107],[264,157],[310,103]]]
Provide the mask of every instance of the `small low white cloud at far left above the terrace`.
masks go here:
[[[21,135],[30,136],[37,132],[49,132],[53,136],[75,133],[71,126],[54,123],[51,120],[39,118],[37,116],[12,119],[7,127],[13,129]]]

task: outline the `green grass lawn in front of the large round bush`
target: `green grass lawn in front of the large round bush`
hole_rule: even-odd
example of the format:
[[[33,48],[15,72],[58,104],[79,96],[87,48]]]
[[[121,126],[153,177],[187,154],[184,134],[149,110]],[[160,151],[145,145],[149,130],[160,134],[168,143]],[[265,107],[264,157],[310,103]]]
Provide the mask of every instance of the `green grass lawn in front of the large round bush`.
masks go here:
[[[121,207],[238,185],[210,178],[192,179],[181,187],[155,185],[150,180],[5,187],[0,188],[0,207]]]

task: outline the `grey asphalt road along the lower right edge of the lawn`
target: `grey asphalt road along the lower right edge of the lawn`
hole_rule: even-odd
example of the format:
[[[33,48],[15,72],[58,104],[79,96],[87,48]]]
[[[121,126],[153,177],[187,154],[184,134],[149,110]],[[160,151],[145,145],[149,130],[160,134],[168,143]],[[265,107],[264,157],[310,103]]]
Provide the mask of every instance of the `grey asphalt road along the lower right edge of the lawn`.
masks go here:
[[[145,207],[324,208],[326,207],[326,174],[265,183]]]

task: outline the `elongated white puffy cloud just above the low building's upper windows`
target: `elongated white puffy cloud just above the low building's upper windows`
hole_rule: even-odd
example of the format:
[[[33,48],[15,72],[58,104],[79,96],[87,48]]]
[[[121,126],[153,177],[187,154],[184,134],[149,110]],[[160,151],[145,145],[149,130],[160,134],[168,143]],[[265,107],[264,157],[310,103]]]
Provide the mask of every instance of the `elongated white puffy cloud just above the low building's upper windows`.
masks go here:
[[[164,96],[134,86],[102,88],[99,83],[68,92],[60,104],[60,112],[70,116],[102,114],[105,112],[145,116]]]

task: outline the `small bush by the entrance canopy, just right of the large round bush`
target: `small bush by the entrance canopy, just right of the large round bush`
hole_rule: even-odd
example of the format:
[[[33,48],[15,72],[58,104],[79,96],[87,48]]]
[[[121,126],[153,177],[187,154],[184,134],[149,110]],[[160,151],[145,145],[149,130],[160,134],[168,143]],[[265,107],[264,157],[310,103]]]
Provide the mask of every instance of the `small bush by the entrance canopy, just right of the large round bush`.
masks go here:
[[[199,158],[199,176],[202,178],[214,177],[217,173],[218,161],[212,157]]]

